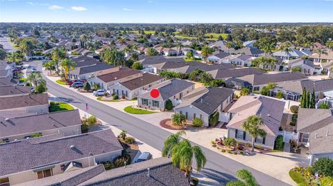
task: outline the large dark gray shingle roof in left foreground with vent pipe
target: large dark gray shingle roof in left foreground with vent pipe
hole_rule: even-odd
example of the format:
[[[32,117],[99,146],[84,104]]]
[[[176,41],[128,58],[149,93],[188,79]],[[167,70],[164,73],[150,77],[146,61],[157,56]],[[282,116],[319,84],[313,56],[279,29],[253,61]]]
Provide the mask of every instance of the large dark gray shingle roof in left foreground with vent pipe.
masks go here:
[[[20,140],[0,145],[0,176],[123,149],[110,129],[39,143],[32,141]],[[75,149],[71,149],[71,145]]]

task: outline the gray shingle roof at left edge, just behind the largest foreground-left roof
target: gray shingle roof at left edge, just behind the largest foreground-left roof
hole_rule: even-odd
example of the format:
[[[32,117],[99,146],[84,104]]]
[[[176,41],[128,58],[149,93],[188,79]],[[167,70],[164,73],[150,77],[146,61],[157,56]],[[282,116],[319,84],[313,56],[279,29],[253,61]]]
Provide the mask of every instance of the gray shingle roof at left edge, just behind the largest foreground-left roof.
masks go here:
[[[7,121],[0,116],[0,138],[23,133],[37,133],[78,124],[81,124],[81,120],[77,109],[15,117]]]

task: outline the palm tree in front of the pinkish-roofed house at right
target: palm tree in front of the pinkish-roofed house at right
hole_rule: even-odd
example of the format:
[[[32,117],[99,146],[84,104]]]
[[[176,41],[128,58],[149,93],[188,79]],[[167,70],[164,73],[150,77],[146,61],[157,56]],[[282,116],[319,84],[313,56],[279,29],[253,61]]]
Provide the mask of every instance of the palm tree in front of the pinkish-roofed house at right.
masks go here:
[[[264,127],[264,122],[262,122],[262,118],[257,115],[252,115],[248,117],[248,119],[243,122],[242,127],[244,131],[250,134],[252,136],[252,151],[255,150],[255,138],[258,136],[264,138],[266,136],[266,131],[264,129],[261,129],[261,127]]]

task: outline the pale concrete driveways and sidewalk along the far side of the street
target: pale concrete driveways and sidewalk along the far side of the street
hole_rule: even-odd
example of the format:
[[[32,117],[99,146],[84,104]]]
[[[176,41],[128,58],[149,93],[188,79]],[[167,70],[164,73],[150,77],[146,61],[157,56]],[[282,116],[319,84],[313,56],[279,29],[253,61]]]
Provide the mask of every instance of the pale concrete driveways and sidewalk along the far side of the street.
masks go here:
[[[44,71],[43,71],[44,73]],[[53,82],[59,79],[59,77],[48,77]],[[63,86],[66,89],[71,89],[72,91],[76,91],[75,89],[69,88],[69,86]],[[76,91],[78,92],[78,91]],[[79,92],[78,92],[79,93]],[[85,95],[86,97],[92,98],[96,100],[96,97],[92,95],[92,93],[80,93]],[[108,106],[111,106],[114,109],[119,111],[123,111],[126,106],[134,105],[137,101],[123,101],[123,102],[101,102]],[[125,111],[123,111],[125,112]],[[135,115],[130,114],[135,118],[139,118],[140,120],[144,120],[151,124],[154,124],[157,127],[160,127],[160,121],[171,118],[172,112],[161,112],[161,113],[151,113],[151,114],[142,114]],[[162,128],[162,127],[161,127]],[[164,129],[164,128],[162,128]],[[176,133],[176,130],[164,129],[171,133]],[[216,151],[223,156],[231,158],[232,160],[236,160],[237,162],[241,162],[248,167],[252,167],[253,169],[257,169],[258,171],[262,171],[265,174],[268,174],[272,177],[278,178],[286,183],[291,185],[295,185],[293,180],[289,177],[289,170],[296,166],[307,166],[308,159],[306,156],[301,156],[299,154],[290,154],[286,152],[273,152],[268,154],[256,154],[255,156],[241,156],[241,155],[233,155],[228,153],[222,153],[221,150],[218,150],[211,145],[211,141],[215,138],[222,138],[223,136],[227,136],[226,129],[218,129],[218,128],[209,128],[209,129],[191,129],[186,131],[186,136],[191,142],[195,142],[198,145],[202,145],[207,149],[211,149],[212,151]],[[154,157],[156,158],[156,157]]]

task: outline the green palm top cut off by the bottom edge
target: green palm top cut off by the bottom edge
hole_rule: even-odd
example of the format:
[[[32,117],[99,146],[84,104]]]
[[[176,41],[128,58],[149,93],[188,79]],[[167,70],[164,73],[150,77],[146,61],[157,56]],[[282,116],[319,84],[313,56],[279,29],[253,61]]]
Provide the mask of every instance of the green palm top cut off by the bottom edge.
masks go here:
[[[227,186],[257,186],[257,180],[252,173],[246,169],[239,169],[236,171],[236,176],[239,178],[237,181],[230,181]]]

